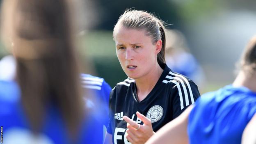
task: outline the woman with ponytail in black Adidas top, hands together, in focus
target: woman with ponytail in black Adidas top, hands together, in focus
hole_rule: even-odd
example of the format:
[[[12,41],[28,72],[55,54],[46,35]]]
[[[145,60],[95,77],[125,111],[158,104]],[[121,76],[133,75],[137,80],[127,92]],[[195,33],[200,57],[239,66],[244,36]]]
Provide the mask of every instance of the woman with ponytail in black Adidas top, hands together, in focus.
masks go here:
[[[115,144],[144,143],[200,94],[192,80],[166,66],[165,27],[152,14],[125,11],[114,27],[113,38],[128,78],[110,94],[107,139]]]

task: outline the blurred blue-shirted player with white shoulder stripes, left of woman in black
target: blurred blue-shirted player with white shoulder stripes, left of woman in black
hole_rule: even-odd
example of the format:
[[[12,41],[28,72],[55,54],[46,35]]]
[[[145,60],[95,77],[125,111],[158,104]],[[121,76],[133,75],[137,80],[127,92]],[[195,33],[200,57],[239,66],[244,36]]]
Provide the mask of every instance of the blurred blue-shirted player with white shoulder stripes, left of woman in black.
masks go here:
[[[111,87],[103,78],[89,74],[81,74],[81,79],[83,88],[90,94],[84,97],[87,110],[91,114],[87,118],[90,121],[90,125],[87,126],[87,137],[89,138],[87,142],[88,144],[103,143],[109,121],[108,113]],[[91,130],[94,130],[94,132],[91,133]]]

